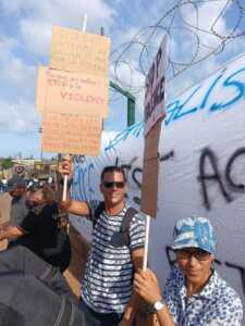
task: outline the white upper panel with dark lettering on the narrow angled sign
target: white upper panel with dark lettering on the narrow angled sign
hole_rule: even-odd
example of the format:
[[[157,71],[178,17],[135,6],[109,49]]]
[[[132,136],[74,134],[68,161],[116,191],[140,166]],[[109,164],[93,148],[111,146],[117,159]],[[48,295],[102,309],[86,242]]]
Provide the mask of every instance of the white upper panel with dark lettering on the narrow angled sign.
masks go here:
[[[162,39],[158,53],[150,66],[145,83],[145,135],[166,116],[164,110],[164,67],[167,55],[167,37]]]

